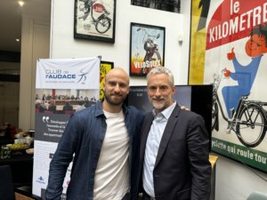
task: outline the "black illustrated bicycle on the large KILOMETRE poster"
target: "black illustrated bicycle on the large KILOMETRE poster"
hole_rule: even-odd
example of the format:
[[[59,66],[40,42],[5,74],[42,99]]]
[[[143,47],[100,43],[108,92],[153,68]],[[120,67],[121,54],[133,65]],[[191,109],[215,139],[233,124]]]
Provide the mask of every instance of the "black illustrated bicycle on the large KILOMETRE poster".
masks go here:
[[[239,141],[246,147],[255,148],[264,139],[267,130],[267,112],[263,106],[267,102],[259,100],[247,100],[242,96],[237,109],[232,113],[231,118],[225,116],[217,91],[223,79],[224,69],[220,75],[214,75],[212,131],[219,131],[219,109],[223,119],[228,123],[229,133],[235,132]]]

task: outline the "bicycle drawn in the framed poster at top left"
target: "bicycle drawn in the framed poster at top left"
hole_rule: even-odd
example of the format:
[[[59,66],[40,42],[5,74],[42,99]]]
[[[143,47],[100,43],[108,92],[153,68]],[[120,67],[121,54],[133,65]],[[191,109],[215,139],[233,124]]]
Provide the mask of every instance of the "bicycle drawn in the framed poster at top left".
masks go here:
[[[95,0],[80,0],[84,4],[80,4],[79,10],[84,12],[83,16],[78,17],[78,19],[86,20],[91,12],[92,23],[97,32],[100,34],[106,33],[111,26],[111,19],[108,17],[110,14],[103,4],[95,3]],[[101,15],[98,18],[93,17],[93,12],[100,12]],[[90,24],[85,25],[85,28],[90,28]]]

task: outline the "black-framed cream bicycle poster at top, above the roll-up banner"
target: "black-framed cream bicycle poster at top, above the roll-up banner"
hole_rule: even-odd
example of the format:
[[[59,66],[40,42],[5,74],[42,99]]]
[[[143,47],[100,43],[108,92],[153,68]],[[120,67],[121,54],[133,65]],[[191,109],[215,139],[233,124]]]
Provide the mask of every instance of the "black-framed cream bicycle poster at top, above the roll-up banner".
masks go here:
[[[115,42],[116,0],[75,0],[74,37]]]

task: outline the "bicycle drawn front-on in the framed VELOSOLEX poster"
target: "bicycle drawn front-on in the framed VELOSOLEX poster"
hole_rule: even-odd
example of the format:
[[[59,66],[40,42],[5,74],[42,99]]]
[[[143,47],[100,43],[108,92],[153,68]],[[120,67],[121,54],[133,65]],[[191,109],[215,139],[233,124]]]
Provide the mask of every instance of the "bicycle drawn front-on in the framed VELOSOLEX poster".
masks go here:
[[[158,44],[156,40],[159,38],[159,34],[157,36],[152,36],[148,33],[145,28],[137,28],[137,31],[143,31],[144,36],[142,38],[143,48],[146,51],[143,61],[146,65],[150,66],[150,62],[154,62],[153,66],[161,66],[162,60],[160,54],[158,52]],[[142,68],[142,74],[148,74],[150,67],[146,66],[146,68]]]

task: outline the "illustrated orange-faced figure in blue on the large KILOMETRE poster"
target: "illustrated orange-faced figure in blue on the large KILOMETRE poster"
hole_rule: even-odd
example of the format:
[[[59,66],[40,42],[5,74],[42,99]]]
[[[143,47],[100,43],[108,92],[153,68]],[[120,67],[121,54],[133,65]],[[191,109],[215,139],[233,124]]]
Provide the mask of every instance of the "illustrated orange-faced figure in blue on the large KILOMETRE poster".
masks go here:
[[[245,46],[245,51],[251,57],[251,62],[247,66],[242,66],[239,63],[235,56],[234,48],[227,54],[228,60],[232,60],[235,72],[224,68],[224,76],[231,77],[238,82],[238,85],[223,87],[223,100],[229,117],[233,116],[234,111],[238,107],[239,99],[242,96],[249,95],[263,53],[267,52],[267,23],[252,29]]]

